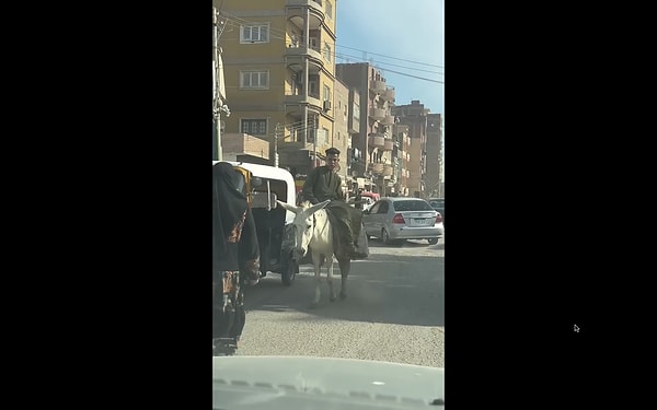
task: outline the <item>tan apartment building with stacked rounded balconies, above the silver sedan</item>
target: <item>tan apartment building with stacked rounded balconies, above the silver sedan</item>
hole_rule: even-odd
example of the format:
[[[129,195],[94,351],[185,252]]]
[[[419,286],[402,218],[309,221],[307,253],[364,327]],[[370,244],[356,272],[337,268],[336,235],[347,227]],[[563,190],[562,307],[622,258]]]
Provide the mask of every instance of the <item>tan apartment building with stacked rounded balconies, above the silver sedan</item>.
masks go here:
[[[378,192],[388,191],[392,168],[392,126],[394,87],[385,84],[380,70],[368,62],[338,63],[336,77],[359,95],[359,129],[351,137],[351,176],[373,184]]]

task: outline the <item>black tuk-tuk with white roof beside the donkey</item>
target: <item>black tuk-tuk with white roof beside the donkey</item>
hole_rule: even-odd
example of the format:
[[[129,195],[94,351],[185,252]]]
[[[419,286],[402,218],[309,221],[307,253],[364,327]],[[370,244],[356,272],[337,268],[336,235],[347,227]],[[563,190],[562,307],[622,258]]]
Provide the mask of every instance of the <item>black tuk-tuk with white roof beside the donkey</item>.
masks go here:
[[[246,198],[255,220],[261,250],[261,276],[279,273],[283,283],[291,285],[299,273],[299,265],[292,261],[291,248],[287,245],[289,238],[286,239],[290,230],[286,226],[295,220],[295,213],[277,207],[276,200],[292,206],[297,203],[292,174],[275,166],[226,162],[244,175]],[[217,163],[212,161],[212,165]]]

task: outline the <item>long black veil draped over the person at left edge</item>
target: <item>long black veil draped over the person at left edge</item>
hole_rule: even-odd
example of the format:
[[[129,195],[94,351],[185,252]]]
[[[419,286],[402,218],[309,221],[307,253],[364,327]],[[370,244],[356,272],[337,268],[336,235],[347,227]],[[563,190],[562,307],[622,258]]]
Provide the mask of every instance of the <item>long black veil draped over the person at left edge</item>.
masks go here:
[[[233,166],[212,166],[212,265],[214,270],[241,270],[258,260],[260,249],[253,215],[240,188],[243,178]]]

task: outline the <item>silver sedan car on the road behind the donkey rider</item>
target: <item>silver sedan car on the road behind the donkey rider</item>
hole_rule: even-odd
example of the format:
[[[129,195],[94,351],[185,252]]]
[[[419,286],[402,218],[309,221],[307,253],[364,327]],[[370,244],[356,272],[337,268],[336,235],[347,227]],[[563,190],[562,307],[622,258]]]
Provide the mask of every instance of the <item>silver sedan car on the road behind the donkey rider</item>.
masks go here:
[[[442,215],[420,198],[383,198],[362,214],[365,232],[384,244],[405,239],[438,243],[442,236]]]

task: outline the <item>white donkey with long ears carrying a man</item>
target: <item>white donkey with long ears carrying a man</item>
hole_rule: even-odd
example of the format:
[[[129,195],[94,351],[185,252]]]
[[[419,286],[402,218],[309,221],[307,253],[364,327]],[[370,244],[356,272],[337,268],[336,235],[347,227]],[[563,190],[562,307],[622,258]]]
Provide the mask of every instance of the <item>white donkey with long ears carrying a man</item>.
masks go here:
[[[295,249],[292,251],[292,259],[295,261],[301,260],[308,253],[308,248],[311,249],[312,263],[314,265],[315,271],[315,297],[312,302],[312,306],[316,307],[320,303],[320,269],[322,262],[322,256],[326,261],[326,282],[328,283],[331,302],[335,301],[335,291],[333,289],[333,256],[337,258],[342,276],[342,288],[339,291],[339,297],[344,300],[347,297],[347,276],[351,269],[351,259],[342,253],[335,253],[334,250],[334,237],[333,226],[328,221],[328,215],[324,207],[330,202],[316,203],[311,207],[309,201],[303,201],[300,207],[295,207],[286,202],[277,201],[279,206],[287,209],[288,211],[295,212],[295,221],[292,227],[295,230]]]

